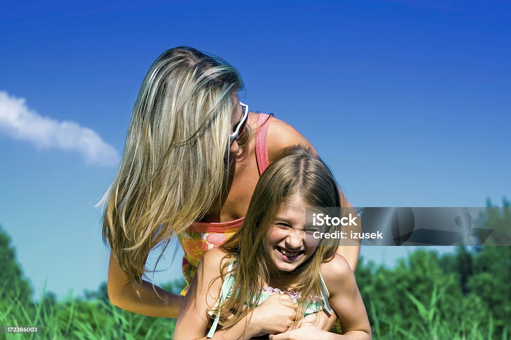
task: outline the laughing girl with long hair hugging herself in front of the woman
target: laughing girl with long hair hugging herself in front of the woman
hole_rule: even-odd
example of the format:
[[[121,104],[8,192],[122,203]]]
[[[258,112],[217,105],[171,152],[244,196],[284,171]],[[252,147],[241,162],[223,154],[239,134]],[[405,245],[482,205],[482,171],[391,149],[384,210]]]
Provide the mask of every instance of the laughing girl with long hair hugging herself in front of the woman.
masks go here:
[[[307,324],[273,339],[370,339],[353,272],[336,253],[334,239],[317,238],[319,230],[310,223],[312,216],[306,218],[306,207],[334,207],[340,216],[341,198],[318,156],[288,148],[261,176],[243,228],[202,258],[179,312],[175,338],[283,333],[304,315],[325,310],[335,311],[342,335]],[[272,312],[275,306],[280,308]]]

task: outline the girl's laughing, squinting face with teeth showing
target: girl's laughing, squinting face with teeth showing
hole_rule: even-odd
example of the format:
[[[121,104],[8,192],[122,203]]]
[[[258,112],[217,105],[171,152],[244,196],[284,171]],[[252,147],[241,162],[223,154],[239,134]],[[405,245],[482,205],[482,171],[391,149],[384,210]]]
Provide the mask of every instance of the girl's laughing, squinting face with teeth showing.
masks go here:
[[[318,228],[306,223],[305,202],[298,194],[281,205],[270,224],[264,250],[278,270],[292,272],[316,251]]]

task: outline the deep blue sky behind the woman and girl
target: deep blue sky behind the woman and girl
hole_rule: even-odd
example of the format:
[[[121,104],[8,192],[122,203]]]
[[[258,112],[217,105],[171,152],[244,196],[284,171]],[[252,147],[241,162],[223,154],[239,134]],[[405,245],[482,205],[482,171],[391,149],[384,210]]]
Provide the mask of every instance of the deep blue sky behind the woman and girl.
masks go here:
[[[237,67],[250,109],[306,136],[354,205],[498,203],[511,196],[510,17],[505,1],[5,3],[0,224],[36,292],[96,289],[108,251],[94,205],[145,72],[183,44]],[[179,261],[156,282],[171,275]]]

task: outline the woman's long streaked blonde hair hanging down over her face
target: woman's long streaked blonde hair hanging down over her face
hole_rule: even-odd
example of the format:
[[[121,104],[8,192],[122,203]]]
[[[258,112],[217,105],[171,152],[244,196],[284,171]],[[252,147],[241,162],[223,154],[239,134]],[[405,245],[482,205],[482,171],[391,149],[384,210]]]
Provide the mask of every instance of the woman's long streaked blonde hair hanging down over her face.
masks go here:
[[[147,72],[103,198],[103,240],[133,282],[147,271],[151,249],[167,245],[220,194],[233,95],[242,88],[233,66],[189,46],[165,51]]]

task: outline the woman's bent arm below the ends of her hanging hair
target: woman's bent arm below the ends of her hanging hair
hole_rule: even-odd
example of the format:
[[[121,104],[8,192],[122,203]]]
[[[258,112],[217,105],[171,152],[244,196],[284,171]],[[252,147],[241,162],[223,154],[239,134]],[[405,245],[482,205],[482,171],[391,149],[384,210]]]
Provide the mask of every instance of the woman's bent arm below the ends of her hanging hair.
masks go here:
[[[177,318],[182,296],[169,293],[148,281],[134,287],[121,269],[115,257],[110,254],[108,266],[108,298],[120,308],[150,317]],[[159,295],[159,296],[158,296]]]

